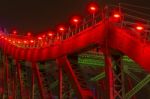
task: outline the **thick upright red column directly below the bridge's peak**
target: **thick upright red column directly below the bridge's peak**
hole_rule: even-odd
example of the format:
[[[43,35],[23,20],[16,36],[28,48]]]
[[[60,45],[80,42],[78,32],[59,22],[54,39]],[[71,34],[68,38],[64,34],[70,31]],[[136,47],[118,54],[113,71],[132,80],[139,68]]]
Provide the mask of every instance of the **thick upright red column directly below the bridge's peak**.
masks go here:
[[[114,98],[114,86],[113,86],[113,67],[111,55],[106,50],[105,52],[105,72],[106,72],[106,88],[107,88],[107,99],[115,99]]]

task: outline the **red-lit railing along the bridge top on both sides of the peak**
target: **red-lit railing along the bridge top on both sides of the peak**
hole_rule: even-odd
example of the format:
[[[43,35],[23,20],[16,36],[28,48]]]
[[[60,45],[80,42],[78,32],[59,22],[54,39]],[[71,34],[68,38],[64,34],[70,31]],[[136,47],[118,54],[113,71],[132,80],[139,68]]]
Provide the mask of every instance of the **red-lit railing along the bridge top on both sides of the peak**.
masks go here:
[[[119,6],[117,6],[119,7]],[[110,9],[113,9],[110,7]],[[150,21],[145,20],[143,18],[139,18],[137,16],[133,16],[126,13],[126,10],[123,8],[119,8],[124,14],[122,15],[123,18],[121,22],[117,23],[116,25],[119,25],[121,27],[128,28],[133,31],[133,33],[130,33],[131,35],[138,37],[140,39],[144,39],[144,41],[150,41]],[[62,42],[65,39],[68,39],[72,36],[74,36],[77,33],[80,33],[81,31],[94,26],[100,20],[103,19],[103,14],[107,14],[107,17],[111,16],[111,10],[107,9],[105,12],[98,12],[97,14],[89,15],[85,17],[82,21],[82,23],[78,26],[70,26],[65,33],[56,33],[52,36],[45,36],[42,39],[38,39],[37,37],[33,36],[22,36],[22,35],[13,35],[13,34],[5,34],[3,35],[3,39],[7,40],[9,43],[17,46],[17,47],[23,47],[23,48],[41,48],[41,47],[48,47],[54,44],[58,44]],[[135,22],[140,21],[145,23],[144,31],[139,32],[136,31],[134,28]],[[4,34],[4,33],[3,33]],[[2,38],[2,37],[1,37]]]

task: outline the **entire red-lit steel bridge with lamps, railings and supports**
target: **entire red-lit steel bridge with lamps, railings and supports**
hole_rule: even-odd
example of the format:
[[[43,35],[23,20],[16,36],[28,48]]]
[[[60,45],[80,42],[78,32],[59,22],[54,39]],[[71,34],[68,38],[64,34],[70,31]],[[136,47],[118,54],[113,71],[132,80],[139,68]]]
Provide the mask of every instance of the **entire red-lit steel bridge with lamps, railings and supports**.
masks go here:
[[[80,25],[76,19],[56,33],[1,31],[1,99],[135,99],[150,82],[150,26],[133,23],[137,19],[120,7],[113,13],[94,9]],[[97,70],[87,69],[91,65]],[[145,73],[142,80],[133,68]]]

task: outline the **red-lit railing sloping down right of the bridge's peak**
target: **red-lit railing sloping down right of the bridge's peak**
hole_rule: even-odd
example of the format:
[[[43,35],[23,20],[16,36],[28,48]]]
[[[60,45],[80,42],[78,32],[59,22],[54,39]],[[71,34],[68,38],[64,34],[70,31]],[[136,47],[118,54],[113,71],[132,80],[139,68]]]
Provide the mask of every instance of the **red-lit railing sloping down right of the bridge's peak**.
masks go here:
[[[133,37],[141,39],[144,42],[150,42],[150,20],[143,18],[145,14],[143,12],[134,10],[133,8],[124,7],[123,5],[109,5],[111,9],[114,7],[121,10],[123,18],[119,25],[123,28],[128,28],[133,32],[129,32]],[[140,16],[140,17],[139,17]],[[150,15],[149,15],[150,16]],[[138,31],[136,26],[142,26],[143,30]]]

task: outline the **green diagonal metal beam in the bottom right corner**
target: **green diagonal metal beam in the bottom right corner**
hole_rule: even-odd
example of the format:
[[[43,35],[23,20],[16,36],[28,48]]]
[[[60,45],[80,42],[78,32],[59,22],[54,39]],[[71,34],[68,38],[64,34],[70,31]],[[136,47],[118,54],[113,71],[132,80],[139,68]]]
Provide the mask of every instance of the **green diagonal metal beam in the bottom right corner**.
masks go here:
[[[131,97],[141,90],[146,84],[150,82],[150,74],[147,75],[142,81],[140,81],[132,90],[130,90],[126,95],[125,99],[131,99]]]

